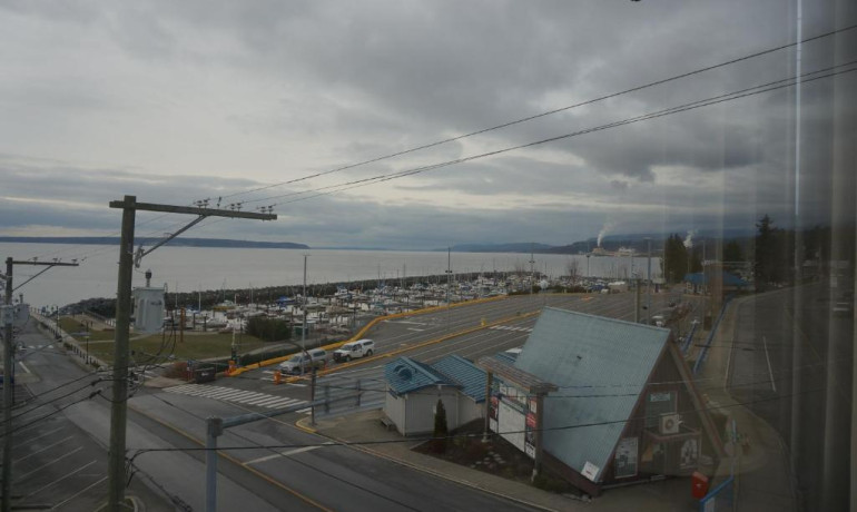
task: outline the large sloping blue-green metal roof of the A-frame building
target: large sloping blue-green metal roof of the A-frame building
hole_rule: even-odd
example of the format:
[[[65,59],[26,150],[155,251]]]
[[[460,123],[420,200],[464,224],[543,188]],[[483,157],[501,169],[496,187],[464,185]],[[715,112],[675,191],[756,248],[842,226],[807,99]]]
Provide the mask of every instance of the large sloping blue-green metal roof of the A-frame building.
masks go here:
[[[544,400],[544,450],[578,472],[587,462],[594,464],[600,481],[669,334],[660,327],[544,308],[514,364],[560,386]],[[574,427],[584,424],[598,425]]]

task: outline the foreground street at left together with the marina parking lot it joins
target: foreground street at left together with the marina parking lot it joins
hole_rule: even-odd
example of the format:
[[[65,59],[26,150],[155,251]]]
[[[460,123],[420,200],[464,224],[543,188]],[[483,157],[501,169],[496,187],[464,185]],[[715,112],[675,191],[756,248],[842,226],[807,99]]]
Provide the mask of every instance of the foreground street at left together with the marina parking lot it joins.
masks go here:
[[[657,296],[653,309],[670,299],[667,294]],[[545,305],[633,318],[633,296],[618,294],[513,297],[387,321],[371,334],[381,357],[342,365],[339,371],[319,377],[319,396],[327,393],[345,400],[331,411],[318,407],[317,413],[343,414],[380,407],[383,364],[398,353],[432,362],[450,353],[477,358],[520,346],[535,322],[535,316],[526,315]],[[489,325],[483,327],[483,322]],[[459,334],[464,331],[470,332]],[[430,343],[444,336],[449,339]],[[27,385],[37,395],[31,406],[45,403],[45,410],[52,414],[39,423],[46,430],[33,429],[37,437],[21,443],[43,459],[32,455],[16,466],[16,472],[45,472],[45,476],[28,479],[26,486],[16,483],[14,491],[26,495],[28,503],[33,499],[50,504],[77,500],[86,503],[83,508],[97,503],[107,492],[105,446],[109,439],[110,404],[102,397],[81,398],[93,390],[93,382],[109,396],[109,383],[96,382],[97,376],[69,361],[51,345],[50,338],[32,328],[21,339],[29,346],[22,361],[30,375],[22,380],[31,381]],[[364,391],[359,404],[355,396],[357,387]],[[60,394],[65,396],[58,398],[56,391],[51,395],[55,388],[62,390]],[[205,452],[200,442],[205,439],[205,419],[286,405],[301,407],[308,400],[306,383],[275,385],[265,370],[211,385],[140,387],[129,401],[127,447],[135,469],[131,490],[144,496],[148,510],[203,509]],[[303,410],[256,421],[228,429],[219,437],[223,451],[218,462],[218,505],[223,510],[526,510],[352,447],[329,445],[326,439],[294,427],[295,420],[307,413]],[[23,434],[27,432],[21,432],[26,440]],[[55,435],[61,435],[56,439],[57,444],[38,442],[53,441]],[[18,446],[16,450],[18,454]],[[28,453],[20,452],[20,456]]]

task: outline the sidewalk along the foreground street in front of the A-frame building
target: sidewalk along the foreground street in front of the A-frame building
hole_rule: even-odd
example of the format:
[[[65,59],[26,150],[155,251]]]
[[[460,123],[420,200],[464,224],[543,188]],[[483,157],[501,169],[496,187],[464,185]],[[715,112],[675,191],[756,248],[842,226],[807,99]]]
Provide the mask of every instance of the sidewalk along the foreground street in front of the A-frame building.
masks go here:
[[[629,510],[693,511],[689,479],[670,479],[605,491],[591,502],[575,496],[554,494],[534,486],[494,476],[482,471],[416,453],[411,449],[420,444],[403,437],[396,431],[387,431],[381,424],[381,410],[364,411],[336,419],[318,420],[313,427],[309,417],[302,419],[302,430],[329,437],[334,441],[357,444],[354,447],[375,456],[387,459],[431,475],[451,480],[490,494],[500,495],[525,505],[550,511],[609,511]]]

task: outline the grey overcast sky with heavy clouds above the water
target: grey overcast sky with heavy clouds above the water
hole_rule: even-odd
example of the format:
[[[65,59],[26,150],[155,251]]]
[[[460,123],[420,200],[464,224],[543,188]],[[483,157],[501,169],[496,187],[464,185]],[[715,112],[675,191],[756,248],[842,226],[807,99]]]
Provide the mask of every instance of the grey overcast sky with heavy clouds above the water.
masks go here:
[[[795,73],[795,48],[324,177],[794,42],[795,2],[0,2],[0,236],[112,235],[124,195],[276,205],[186,236],[311,246],[570,244],[739,229],[795,209],[795,88],[317,196]],[[804,2],[804,37],[857,23]],[[802,71],[857,60],[857,30]],[[801,88],[802,223],[829,211],[837,90]],[[819,176],[822,176],[819,178]],[[326,191],[336,188],[325,189]],[[296,194],[303,193],[303,194]],[[236,195],[237,194],[237,195]],[[315,197],[314,197],[315,196]],[[298,200],[299,199],[299,200]],[[138,235],[190,218],[138,215]],[[152,220],[155,219],[155,220]],[[145,224],[144,224],[145,223]]]

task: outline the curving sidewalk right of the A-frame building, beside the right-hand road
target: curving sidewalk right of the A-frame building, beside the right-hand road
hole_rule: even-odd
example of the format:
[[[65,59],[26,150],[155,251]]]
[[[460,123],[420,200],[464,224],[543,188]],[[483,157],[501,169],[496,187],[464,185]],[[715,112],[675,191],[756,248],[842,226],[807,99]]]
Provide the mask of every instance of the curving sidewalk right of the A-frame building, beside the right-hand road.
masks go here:
[[[725,444],[725,457],[711,488],[729,476],[735,455],[736,510],[739,511],[794,511],[796,501],[791,477],[788,472],[789,455],[779,433],[767,422],[742,405],[737,405],[728,391],[728,367],[730,357],[735,357],[731,345],[736,337],[737,313],[742,304],[755,299],[753,296],[732,301],[729,309],[715,335],[712,345],[728,346],[728,349],[709,351],[705,364],[696,380],[705,383],[702,393],[709,407],[725,407],[727,424],[736,423],[738,436],[742,443]],[[733,453],[735,452],[735,453]]]

